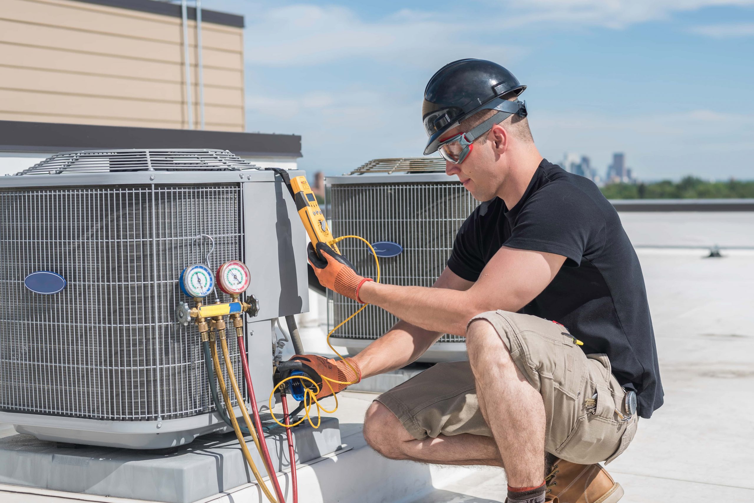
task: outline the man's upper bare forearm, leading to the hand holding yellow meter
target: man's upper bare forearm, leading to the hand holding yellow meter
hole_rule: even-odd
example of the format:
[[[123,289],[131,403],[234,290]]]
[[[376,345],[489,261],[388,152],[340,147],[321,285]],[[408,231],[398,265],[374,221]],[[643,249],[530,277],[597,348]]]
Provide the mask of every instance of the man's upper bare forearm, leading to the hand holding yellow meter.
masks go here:
[[[465,335],[467,322],[480,312],[511,309],[492,300],[471,296],[468,291],[421,286],[382,285],[366,282],[359,291],[366,303],[380,306],[405,322],[428,331]]]

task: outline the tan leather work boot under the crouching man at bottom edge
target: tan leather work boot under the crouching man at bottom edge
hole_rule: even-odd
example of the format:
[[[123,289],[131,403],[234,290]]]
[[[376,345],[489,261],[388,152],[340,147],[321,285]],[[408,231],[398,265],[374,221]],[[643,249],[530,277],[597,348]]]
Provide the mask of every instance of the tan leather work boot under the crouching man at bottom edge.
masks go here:
[[[615,503],[623,498],[621,484],[599,464],[577,465],[557,459],[545,482],[547,501],[553,503]]]

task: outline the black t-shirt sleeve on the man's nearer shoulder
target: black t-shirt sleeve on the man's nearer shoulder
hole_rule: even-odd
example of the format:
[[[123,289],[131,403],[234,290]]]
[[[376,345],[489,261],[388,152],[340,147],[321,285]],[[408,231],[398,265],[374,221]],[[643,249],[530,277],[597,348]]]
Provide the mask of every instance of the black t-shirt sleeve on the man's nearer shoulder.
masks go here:
[[[526,202],[503,246],[554,253],[578,267],[584,252],[604,227],[596,204],[570,184],[548,184]]]

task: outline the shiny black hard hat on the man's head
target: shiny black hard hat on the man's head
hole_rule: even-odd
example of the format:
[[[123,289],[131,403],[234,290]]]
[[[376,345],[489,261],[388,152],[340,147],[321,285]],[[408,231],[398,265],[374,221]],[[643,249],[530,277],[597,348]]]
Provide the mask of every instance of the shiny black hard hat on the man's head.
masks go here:
[[[458,59],[443,66],[429,79],[421,105],[429,136],[425,155],[437,151],[443,133],[477,111],[495,108],[507,112],[504,117],[514,113],[526,117],[525,102],[507,101],[525,89],[507,69],[485,59]]]

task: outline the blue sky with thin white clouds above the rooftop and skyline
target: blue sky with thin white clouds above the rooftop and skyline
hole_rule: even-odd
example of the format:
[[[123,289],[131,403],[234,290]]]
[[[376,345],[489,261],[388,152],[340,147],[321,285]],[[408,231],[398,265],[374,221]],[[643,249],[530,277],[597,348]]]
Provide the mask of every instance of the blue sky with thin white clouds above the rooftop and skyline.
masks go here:
[[[335,175],[420,156],[421,98],[462,57],[523,94],[541,153],[615,151],[639,178],[754,179],[754,0],[247,2],[247,130],[302,136],[299,166]]]

